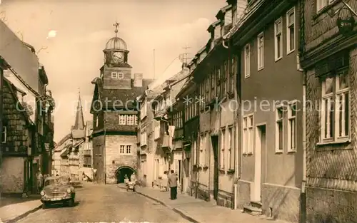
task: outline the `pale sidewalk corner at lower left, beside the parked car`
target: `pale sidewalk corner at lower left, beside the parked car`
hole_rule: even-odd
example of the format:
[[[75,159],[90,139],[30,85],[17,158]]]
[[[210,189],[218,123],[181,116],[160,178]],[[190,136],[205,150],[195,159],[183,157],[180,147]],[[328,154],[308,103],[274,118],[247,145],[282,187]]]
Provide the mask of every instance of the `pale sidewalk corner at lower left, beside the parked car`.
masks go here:
[[[0,207],[0,223],[11,223],[41,208],[39,199]]]

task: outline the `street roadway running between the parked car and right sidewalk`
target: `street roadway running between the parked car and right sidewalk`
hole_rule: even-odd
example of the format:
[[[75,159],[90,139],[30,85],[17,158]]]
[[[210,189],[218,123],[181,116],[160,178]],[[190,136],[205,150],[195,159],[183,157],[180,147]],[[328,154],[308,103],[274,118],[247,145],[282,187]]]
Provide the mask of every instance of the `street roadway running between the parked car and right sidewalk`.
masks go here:
[[[85,185],[76,206],[39,209],[18,222],[189,222],[158,202],[116,185]]]

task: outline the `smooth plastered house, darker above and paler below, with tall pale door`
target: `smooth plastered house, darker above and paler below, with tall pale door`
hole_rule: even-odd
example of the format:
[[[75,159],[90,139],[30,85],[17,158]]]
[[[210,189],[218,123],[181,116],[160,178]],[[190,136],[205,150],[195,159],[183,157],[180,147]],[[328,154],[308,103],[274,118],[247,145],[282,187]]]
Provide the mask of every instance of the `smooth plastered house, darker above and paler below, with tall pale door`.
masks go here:
[[[298,222],[303,180],[301,1],[248,1],[230,48],[238,59],[238,207]],[[283,92],[283,93],[282,93]]]

